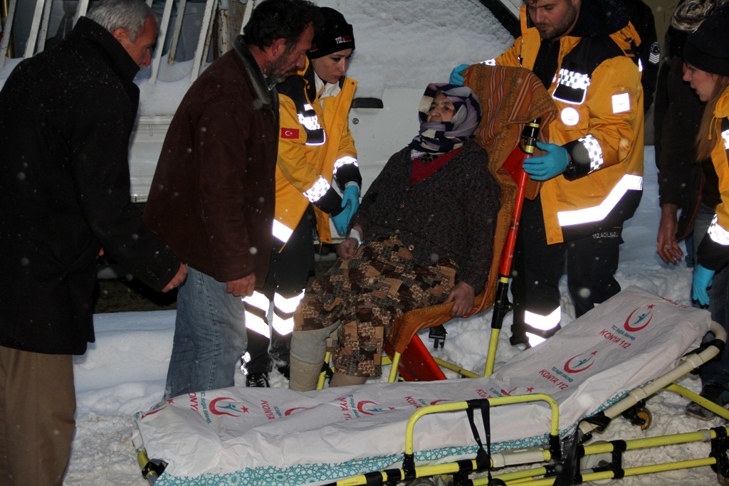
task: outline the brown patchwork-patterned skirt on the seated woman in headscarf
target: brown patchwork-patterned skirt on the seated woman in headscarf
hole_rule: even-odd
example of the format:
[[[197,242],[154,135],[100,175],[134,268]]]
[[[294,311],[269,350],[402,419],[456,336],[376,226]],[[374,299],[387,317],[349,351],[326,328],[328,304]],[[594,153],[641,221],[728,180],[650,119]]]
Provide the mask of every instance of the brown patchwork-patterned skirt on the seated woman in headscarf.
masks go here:
[[[341,326],[333,350],[338,372],[349,376],[382,374],[384,337],[392,322],[408,310],[443,302],[456,278],[453,259],[423,266],[397,237],[359,247],[348,260],[338,259],[317,279],[294,316],[295,329]]]

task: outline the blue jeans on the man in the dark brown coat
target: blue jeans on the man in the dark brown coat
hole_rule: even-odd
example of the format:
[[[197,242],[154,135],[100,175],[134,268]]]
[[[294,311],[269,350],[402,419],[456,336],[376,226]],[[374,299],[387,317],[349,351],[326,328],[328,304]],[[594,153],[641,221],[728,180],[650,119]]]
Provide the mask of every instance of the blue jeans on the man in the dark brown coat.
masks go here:
[[[243,299],[228,294],[225,285],[187,267],[177,294],[165,399],[233,386],[248,342]]]

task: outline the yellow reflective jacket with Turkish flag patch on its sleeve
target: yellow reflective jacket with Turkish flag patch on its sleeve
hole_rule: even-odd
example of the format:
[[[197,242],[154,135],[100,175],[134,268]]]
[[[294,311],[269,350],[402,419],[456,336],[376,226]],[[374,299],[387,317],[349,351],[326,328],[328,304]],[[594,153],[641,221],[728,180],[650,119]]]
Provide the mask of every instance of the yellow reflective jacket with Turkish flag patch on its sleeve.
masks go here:
[[[310,202],[316,213],[319,240],[331,243],[329,213],[339,213],[341,205],[340,195],[331,187],[332,179],[337,180],[340,189],[348,181],[362,185],[348,123],[349,107],[357,83],[354,79],[343,77],[337,95],[319,99],[321,93],[316,93],[314,76],[307,60],[304,71],[277,86],[281,133],[278,139],[273,235],[284,243],[299,224]],[[347,162],[349,170],[342,171],[339,167],[335,171],[335,165],[340,165],[342,160]],[[335,177],[335,172],[340,173]]]

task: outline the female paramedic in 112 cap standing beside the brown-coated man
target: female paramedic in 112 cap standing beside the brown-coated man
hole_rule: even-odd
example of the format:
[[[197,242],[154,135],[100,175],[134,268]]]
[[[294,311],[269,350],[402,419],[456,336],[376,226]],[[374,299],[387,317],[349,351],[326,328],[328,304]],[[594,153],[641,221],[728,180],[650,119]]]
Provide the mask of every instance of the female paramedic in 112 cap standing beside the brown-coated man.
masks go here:
[[[281,133],[273,255],[264,289],[244,299],[251,358],[246,365],[248,386],[268,386],[271,358],[288,375],[293,315],[313,273],[313,228],[319,232],[319,241],[331,243],[330,217],[337,231],[345,235],[359,206],[362,176],[348,125],[357,83],[345,76],[354,51],[354,34],[340,12],[327,7],[319,11],[323,23],[307,53],[304,71],[276,86]]]

